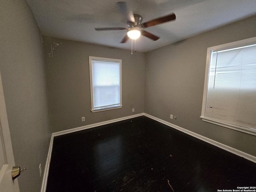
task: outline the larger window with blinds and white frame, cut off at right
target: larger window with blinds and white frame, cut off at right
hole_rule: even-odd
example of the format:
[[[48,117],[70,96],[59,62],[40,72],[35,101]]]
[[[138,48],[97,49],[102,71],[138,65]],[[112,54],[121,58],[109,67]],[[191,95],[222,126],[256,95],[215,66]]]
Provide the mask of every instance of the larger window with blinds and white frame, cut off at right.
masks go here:
[[[200,118],[256,135],[256,38],[208,48]]]

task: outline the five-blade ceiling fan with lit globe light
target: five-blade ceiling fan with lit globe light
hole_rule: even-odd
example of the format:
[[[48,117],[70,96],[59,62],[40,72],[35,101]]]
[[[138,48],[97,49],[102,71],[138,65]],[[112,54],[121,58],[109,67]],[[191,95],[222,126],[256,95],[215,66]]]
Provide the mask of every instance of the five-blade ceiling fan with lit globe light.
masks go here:
[[[116,3],[118,10],[121,14],[123,14],[126,18],[127,28],[124,27],[107,27],[107,28],[95,28],[96,31],[104,31],[104,30],[127,30],[126,36],[122,39],[120,43],[125,43],[128,38],[137,39],[140,35],[146,36],[151,40],[158,40],[160,37],[143,30],[144,28],[148,28],[151,26],[155,26],[161,23],[169,22],[176,19],[174,13],[169,14],[167,16],[163,16],[160,18],[156,18],[144,23],[142,22],[142,16],[138,14],[133,14],[131,10],[128,10],[126,2],[117,2]]]

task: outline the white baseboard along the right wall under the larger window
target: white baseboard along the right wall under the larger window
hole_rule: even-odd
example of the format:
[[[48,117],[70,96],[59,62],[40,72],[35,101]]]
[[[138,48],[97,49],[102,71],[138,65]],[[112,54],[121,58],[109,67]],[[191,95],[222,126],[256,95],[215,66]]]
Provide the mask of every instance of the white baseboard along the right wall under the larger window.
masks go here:
[[[156,121],[158,121],[158,122],[160,122],[160,123],[162,123],[162,124],[165,124],[165,125],[167,125],[167,126],[170,126],[170,127],[172,127],[172,128],[175,128],[175,129],[177,129],[177,130],[179,130],[179,131],[181,131],[181,132],[184,132],[184,133],[186,133],[186,134],[188,134],[188,135],[191,135],[191,136],[193,136],[193,137],[195,137],[195,138],[198,138],[198,139],[200,139],[200,140],[202,140],[202,141],[205,141],[205,142],[207,142],[207,143],[209,143],[209,144],[212,144],[212,145],[214,145],[214,146],[216,146],[216,147],[218,147],[218,148],[224,149],[224,150],[226,150],[226,151],[228,151],[228,152],[231,152],[231,153],[233,153],[233,154],[236,154],[236,155],[238,155],[238,156],[240,156],[240,157],[243,157],[243,158],[245,158],[245,159],[247,159],[247,160],[250,160],[250,161],[256,163],[256,157],[255,157],[255,156],[252,156],[252,155],[250,155],[250,154],[248,154],[248,153],[245,153],[245,152],[242,152],[242,151],[237,150],[237,149],[235,149],[235,148],[232,148],[232,147],[230,147],[230,146],[224,145],[224,144],[222,144],[222,143],[220,143],[220,142],[214,141],[214,140],[212,140],[212,139],[209,139],[209,138],[207,138],[207,137],[204,137],[204,136],[199,135],[199,134],[197,134],[197,133],[194,133],[194,132],[192,132],[192,131],[186,130],[186,129],[184,129],[184,128],[181,128],[181,127],[179,127],[179,126],[176,126],[176,125],[174,125],[174,124],[171,124],[171,123],[169,123],[169,122],[166,122],[166,121],[164,121],[164,120],[161,120],[161,119],[156,118],[156,117],[154,117],[154,116],[151,116],[151,115],[149,115],[149,114],[146,114],[146,113],[145,113],[144,116],[149,117],[149,118],[151,118],[151,119],[153,119],[153,120],[156,120]]]

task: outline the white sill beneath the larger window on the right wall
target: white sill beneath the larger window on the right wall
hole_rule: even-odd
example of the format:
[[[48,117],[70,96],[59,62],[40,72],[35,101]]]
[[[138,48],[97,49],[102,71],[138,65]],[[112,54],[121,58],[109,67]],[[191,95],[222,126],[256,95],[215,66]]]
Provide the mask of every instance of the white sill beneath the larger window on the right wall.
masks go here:
[[[236,126],[236,125],[232,125],[232,124],[228,124],[228,123],[224,123],[224,122],[218,122],[216,120],[213,120],[213,119],[210,119],[210,118],[205,118],[203,116],[200,116],[200,118],[203,121],[208,122],[208,123],[216,124],[216,125],[219,125],[219,126],[222,126],[222,127],[230,128],[230,129],[233,129],[233,130],[237,130],[237,131],[240,131],[240,132],[244,132],[244,133],[256,136],[256,130],[252,129],[252,128],[246,128],[246,127]]]

